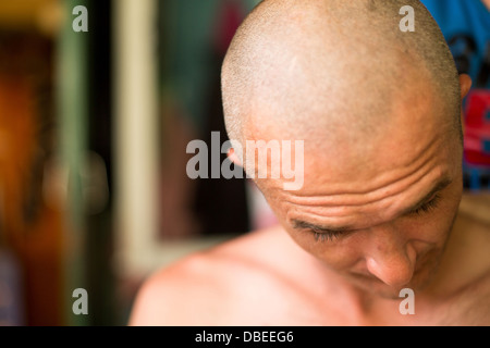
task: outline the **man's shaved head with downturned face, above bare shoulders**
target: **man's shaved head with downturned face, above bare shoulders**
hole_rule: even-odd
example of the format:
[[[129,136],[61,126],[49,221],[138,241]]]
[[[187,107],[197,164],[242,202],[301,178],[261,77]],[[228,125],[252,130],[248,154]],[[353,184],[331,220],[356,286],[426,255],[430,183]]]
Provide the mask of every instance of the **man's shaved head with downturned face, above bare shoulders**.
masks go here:
[[[468,78],[419,1],[266,0],[223,63],[225,124],[242,145],[304,140],[298,189],[254,177],[278,222],[355,291],[397,298],[433,279],[457,215]]]

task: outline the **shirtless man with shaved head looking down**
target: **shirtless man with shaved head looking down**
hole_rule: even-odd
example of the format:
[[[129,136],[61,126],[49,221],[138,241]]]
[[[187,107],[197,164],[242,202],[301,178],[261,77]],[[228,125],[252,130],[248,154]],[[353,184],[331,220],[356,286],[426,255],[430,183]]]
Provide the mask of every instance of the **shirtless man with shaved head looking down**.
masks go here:
[[[304,140],[304,184],[256,178],[280,224],[156,273],[130,323],[489,325],[490,233],[458,213],[469,87],[418,1],[260,3],[223,63],[226,129]]]

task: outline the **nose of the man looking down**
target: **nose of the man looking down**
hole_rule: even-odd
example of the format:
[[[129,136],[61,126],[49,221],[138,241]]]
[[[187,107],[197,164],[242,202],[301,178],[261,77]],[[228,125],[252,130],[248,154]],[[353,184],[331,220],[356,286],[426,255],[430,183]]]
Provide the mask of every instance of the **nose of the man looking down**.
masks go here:
[[[402,287],[414,275],[416,251],[393,226],[369,232],[366,266],[372,275],[392,287]]]

